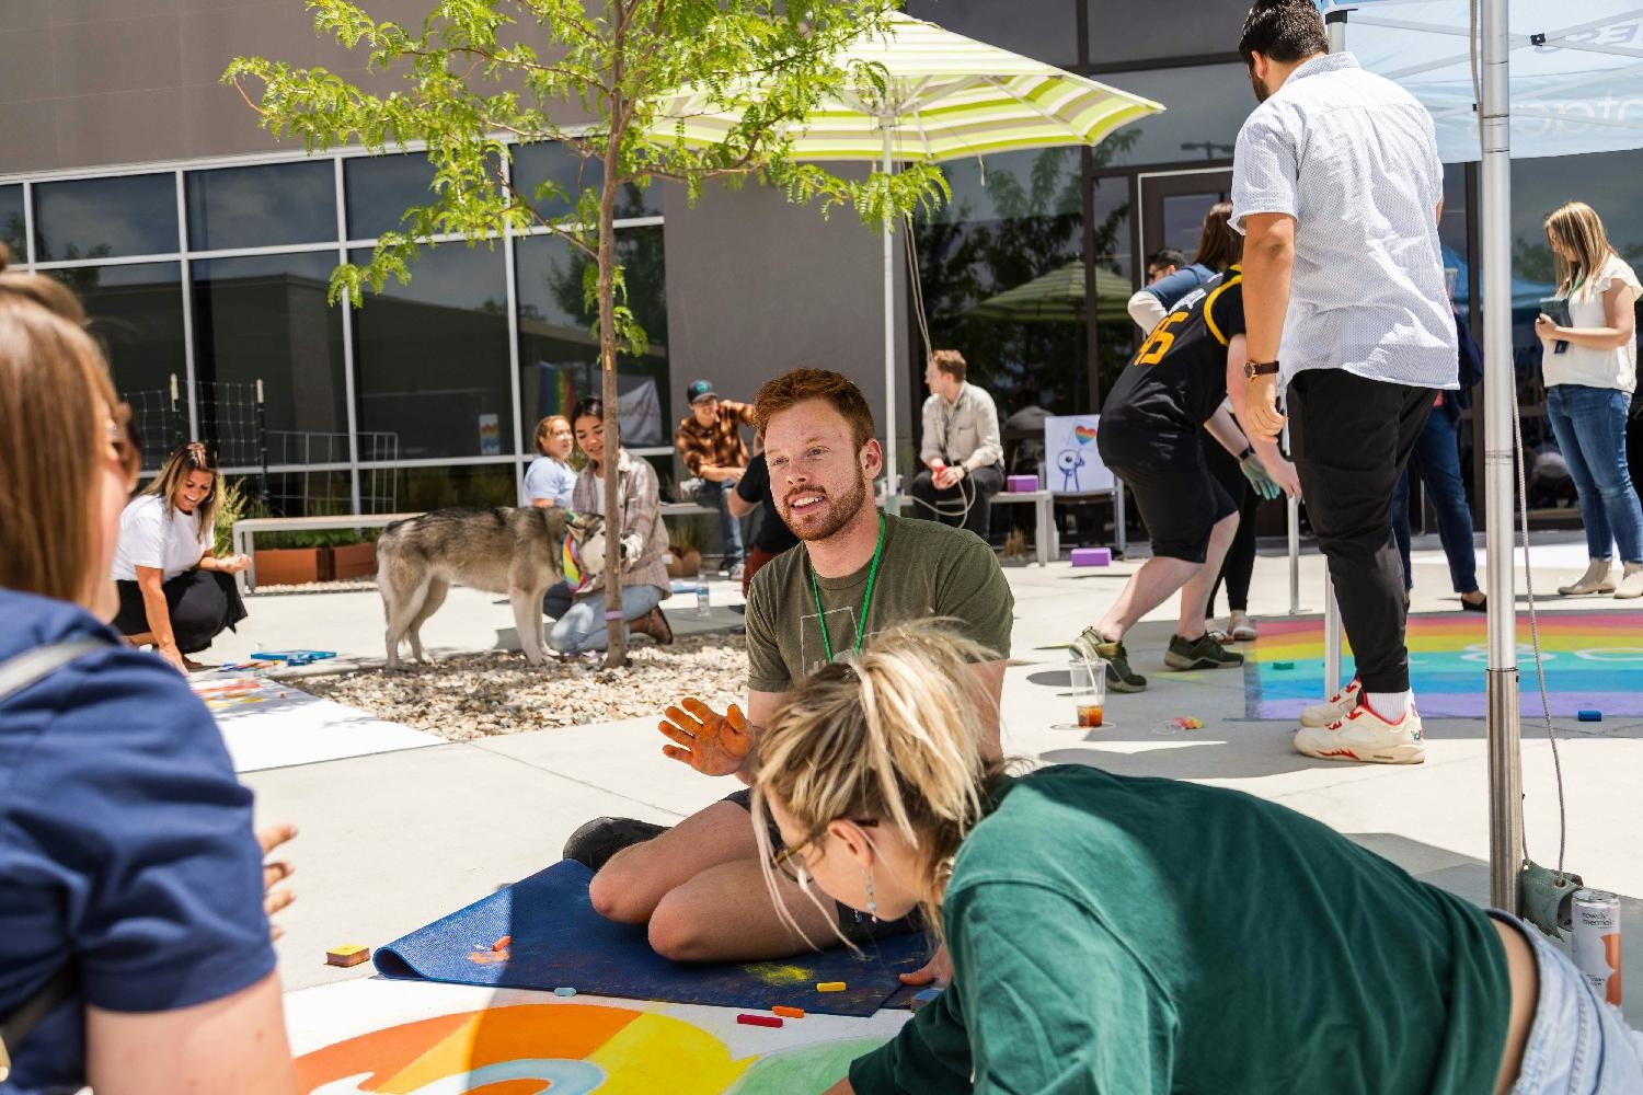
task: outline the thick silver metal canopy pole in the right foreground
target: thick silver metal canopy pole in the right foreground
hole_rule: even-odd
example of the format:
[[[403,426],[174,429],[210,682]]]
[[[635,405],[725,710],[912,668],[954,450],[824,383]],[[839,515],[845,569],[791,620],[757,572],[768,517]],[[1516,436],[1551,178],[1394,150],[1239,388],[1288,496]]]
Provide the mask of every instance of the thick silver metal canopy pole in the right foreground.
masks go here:
[[[1482,0],[1484,507],[1489,515],[1489,901],[1516,913],[1523,867],[1516,591],[1512,573],[1512,90],[1507,0]]]

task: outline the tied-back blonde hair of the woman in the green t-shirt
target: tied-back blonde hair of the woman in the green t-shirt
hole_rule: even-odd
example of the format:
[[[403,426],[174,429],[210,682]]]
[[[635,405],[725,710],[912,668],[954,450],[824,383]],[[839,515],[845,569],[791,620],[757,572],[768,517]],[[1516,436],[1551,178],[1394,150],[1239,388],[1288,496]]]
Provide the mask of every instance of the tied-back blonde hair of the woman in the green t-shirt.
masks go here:
[[[764,727],[749,768],[754,831],[789,928],[803,934],[769,868],[767,798],[807,836],[840,818],[894,826],[918,852],[927,919],[940,934],[953,855],[981,819],[986,783],[1001,768],[983,760],[983,708],[994,699],[971,668],[996,657],[946,621],[892,627],[810,676]]]

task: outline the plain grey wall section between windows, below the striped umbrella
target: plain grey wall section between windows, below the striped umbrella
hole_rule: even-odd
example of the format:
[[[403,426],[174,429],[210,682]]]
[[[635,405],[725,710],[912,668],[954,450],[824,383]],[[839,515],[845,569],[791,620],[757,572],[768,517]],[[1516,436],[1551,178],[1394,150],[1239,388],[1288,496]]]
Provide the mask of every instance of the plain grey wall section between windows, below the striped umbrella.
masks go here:
[[[841,166],[845,171],[858,171]],[[864,171],[864,169],[863,169]],[[695,208],[667,187],[667,325],[675,419],[685,386],[708,378],[726,399],[808,366],[861,386],[884,433],[882,236],[848,208],[826,220],[779,192],[708,189]],[[895,248],[897,437],[910,437],[905,254]],[[922,396],[922,392],[920,392]]]

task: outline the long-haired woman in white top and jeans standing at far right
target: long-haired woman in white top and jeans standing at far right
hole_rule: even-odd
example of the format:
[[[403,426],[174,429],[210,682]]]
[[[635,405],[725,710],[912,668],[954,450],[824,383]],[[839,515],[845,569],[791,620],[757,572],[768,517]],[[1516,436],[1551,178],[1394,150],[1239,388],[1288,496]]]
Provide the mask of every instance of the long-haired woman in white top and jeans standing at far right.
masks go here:
[[[1592,560],[1558,593],[1643,598],[1643,506],[1627,470],[1627,410],[1638,379],[1631,305],[1643,286],[1585,202],[1569,202],[1548,217],[1546,241],[1558,256],[1558,296],[1569,302],[1571,318],[1567,327],[1549,315],[1535,320],[1546,419],[1569,461]],[[1618,586],[1612,545],[1623,565]]]

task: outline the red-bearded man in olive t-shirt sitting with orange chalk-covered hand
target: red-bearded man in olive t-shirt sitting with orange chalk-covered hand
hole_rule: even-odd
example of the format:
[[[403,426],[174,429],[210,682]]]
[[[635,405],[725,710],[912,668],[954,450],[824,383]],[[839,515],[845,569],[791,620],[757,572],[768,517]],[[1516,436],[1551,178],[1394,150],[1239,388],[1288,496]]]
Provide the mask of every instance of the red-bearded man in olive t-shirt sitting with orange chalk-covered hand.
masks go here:
[[[752,735],[798,681],[874,632],[943,616],[997,655],[974,670],[987,752],[1001,755],[1014,596],[992,550],[973,532],[879,514],[872,481],[882,451],[868,402],[845,376],[777,378],[759,391],[754,420],[777,514],[802,545],[766,565],[749,589],[746,717],[687,699],[667,709],[660,729],[674,744],[662,750],[703,775],[739,775]],[[775,959],[831,946],[838,931],[872,937],[914,928],[871,923],[779,878],[795,934],[769,898],[746,791],[660,832],[626,819],[590,822],[565,855],[598,872],[588,896],[600,914],[647,924],[651,946],[680,962]]]

